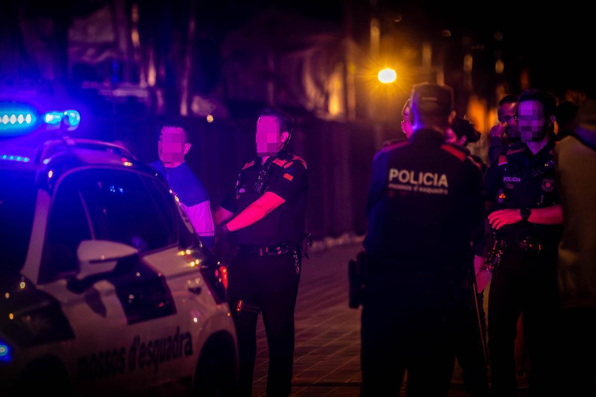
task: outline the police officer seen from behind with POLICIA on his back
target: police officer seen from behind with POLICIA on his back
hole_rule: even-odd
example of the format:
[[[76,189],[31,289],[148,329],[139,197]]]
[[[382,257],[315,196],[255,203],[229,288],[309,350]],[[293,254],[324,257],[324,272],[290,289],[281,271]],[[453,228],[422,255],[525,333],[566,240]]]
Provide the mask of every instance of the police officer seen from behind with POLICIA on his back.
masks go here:
[[[362,311],[362,395],[446,395],[454,365],[453,313],[464,290],[474,227],[482,224],[480,165],[445,143],[451,87],[412,89],[411,139],[373,160],[369,269]]]

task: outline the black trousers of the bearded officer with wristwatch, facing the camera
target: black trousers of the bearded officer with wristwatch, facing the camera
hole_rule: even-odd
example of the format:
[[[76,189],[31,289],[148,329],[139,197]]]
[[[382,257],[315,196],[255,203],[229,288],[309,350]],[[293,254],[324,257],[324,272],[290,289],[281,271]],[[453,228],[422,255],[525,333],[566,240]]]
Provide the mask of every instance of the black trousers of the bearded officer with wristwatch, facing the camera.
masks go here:
[[[489,292],[488,340],[491,390],[516,395],[514,342],[517,320],[530,356],[530,391],[551,395],[560,383],[560,310],[556,252],[507,254],[493,271]]]

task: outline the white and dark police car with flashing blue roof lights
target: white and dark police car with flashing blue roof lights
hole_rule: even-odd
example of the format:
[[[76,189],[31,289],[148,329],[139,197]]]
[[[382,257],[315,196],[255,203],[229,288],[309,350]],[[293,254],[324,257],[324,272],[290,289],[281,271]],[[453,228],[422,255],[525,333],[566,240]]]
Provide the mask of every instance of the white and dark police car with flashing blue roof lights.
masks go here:
[[[0,136],[33,118],[0,110]],[[23,142],[0,139],[0,393],[231,393],[226,270],[164,180],[111,143]]]

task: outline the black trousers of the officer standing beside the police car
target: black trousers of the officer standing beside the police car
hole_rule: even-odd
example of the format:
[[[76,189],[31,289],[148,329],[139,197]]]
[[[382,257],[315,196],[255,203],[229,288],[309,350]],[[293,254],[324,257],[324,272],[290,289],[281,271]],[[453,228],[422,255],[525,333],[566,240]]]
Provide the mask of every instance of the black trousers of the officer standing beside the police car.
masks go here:
[[[300,258],[299,269],[300,269]],[[228,271],[228,301],[238,337],[239,395],[250,396],[259,312],[269,345],[268,396],[291,392],[294,361],[294,308],[300,271],[293,254],[238,256]],[[243,307],[237,311],[238,301]]]

